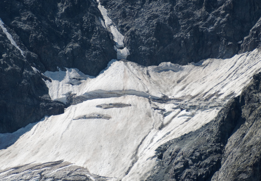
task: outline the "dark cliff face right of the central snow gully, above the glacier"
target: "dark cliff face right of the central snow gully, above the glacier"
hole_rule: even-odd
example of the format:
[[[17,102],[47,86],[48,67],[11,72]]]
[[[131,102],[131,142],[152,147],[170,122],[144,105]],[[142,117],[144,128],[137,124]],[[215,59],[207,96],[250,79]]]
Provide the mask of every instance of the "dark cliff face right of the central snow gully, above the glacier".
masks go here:
[[[124,44],[131,54],[128,60],[142,65],[229,58],[239,50],[254,49],[260,42],[252,40],[255,43],[250,49],[245,48],[256,38],[252,30],[244,41],[260,18],[258,0],[101,2],[125,35]]]

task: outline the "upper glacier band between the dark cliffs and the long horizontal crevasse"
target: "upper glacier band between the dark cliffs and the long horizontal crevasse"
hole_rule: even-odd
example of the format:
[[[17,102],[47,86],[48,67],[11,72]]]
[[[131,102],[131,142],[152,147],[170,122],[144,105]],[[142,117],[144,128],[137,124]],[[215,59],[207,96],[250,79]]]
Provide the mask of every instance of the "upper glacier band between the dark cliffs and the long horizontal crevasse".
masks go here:
[[[260,70],[260,65],[260,53],[254,50],[230,59],[207,59],[185,66],[165,62],[143,67],[129,61],[112,60],[97,77],[84,75],[77,69],[44,74],[52,79],[51,82],[46,80],[52,100],[66,100],[68,94],[87,100],[99,96],[136,95],[168,98],[180,105],[204,100],[218,103],[239,95],[252,75]],[[84,78],[77,78],[71,72]]]

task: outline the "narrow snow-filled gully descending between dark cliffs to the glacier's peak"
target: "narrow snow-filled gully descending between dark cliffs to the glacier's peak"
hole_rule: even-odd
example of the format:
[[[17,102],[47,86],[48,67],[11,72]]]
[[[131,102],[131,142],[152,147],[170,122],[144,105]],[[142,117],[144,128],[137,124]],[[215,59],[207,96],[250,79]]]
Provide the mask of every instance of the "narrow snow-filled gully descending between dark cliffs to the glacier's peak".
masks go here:
[[[106,26],[107,30],[110,31],[113,35],[113,41],[115,42],[116,46],[114,49],[117,51],[117,59],[126,59],[128,55],[130,55],[129,50],[125,47],[124,48],[124,36],[119,32],[119,30],[114,26],[113,21],[108,17],[108,12],[104,8],[104,6],[101,5],[100,1],[97,0],[98,3],[98,9],[100,10],[104,22],[99,18],[100,22],[102,23],[103,27]],[[105,25],[104,25],[105,24]]]

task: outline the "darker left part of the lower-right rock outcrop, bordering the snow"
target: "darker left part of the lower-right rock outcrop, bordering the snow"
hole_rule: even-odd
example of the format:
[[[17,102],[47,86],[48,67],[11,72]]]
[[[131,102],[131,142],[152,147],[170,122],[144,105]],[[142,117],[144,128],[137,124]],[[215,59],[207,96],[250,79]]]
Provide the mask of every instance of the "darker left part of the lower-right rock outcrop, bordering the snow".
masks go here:
[[[210,180],[240,119],[239,98],[235,98],[214,121],[157,148],[158,163],[147,180]]]

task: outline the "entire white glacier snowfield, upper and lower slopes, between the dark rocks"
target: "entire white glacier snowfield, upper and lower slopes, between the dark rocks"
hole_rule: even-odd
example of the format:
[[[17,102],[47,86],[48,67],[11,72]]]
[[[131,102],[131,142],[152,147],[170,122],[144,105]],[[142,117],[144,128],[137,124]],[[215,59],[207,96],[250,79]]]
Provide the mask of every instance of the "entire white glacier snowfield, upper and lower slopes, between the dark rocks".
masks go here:
[[[112,60],[97,77],[77,69],[47,71],[53,100],[65,103],[69,94],[86,100],[0,150],[0,169],[64,160],[108,180],[144,180],[158,146],[213,120],[260,67],[261,53],[254,50],[185,66]]]

